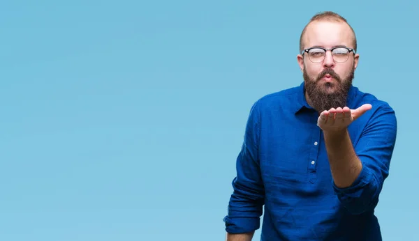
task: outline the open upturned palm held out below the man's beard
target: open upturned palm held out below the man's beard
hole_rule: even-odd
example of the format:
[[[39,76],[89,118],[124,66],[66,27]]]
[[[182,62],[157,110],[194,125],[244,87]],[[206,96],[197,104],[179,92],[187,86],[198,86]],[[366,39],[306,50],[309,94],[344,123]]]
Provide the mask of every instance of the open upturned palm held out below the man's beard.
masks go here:
[[[323,131],[339,131],[344,130],[351,125],[354,120],[365,114],[372,108],[371,104],[362,104],[358,109],[349,109],[348,107],[332,108],[328,111],[321,112],[317,119],[317,125]]]

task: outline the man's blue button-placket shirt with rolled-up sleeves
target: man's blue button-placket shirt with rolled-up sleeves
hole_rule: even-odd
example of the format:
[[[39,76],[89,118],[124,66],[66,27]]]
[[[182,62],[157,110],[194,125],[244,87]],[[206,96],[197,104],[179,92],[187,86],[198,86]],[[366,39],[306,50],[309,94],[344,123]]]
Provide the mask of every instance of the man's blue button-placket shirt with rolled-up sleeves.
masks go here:
[[[397,120],[387,102],[351,86],[347,106],[362,104],[372,109],[348,126],[362,171],[346,188],[333,182],[318,113],[307,104],[303,83],[253,104],[226,231],[255,231],[263,214],[260,240],[382,240],[374,208],[388,177]]]

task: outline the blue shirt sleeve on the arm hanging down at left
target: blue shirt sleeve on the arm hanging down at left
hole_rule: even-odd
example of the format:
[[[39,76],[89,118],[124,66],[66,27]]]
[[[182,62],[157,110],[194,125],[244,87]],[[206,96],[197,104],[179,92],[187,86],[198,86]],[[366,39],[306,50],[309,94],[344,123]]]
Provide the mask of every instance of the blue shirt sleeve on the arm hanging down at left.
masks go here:
[[[237,176],[232,182],[228,215],[223,219],[228,233],[248,233],[260,227],[265,190],[258,159],[260,112],[257,104],[251,108],[242,149],[236,160]]]

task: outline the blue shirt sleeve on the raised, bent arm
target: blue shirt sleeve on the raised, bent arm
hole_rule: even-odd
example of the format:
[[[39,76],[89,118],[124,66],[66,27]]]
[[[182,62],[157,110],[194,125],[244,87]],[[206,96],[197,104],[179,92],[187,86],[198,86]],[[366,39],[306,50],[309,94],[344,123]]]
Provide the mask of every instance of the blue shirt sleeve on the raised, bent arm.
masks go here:
[[[333,183],[339,201],[349,212],[356,215],[376,207],[389,174],[396,135],[395,111],[387,104],[379,107],[355,145],[355,153],[362,163],[360,175],[351,187],[339,188]]]

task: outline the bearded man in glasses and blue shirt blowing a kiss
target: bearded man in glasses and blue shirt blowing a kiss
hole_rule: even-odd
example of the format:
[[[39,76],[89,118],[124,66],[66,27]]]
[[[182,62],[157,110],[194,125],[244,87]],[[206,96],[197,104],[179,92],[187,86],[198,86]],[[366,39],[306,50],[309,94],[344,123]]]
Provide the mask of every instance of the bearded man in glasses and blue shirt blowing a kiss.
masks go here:
[[[228,203],[227,240],[382,240],[374,215],[395,146],[388,103],[352,85],[355,33],[332,12],[302,31],[304,82],[251,108]]]

